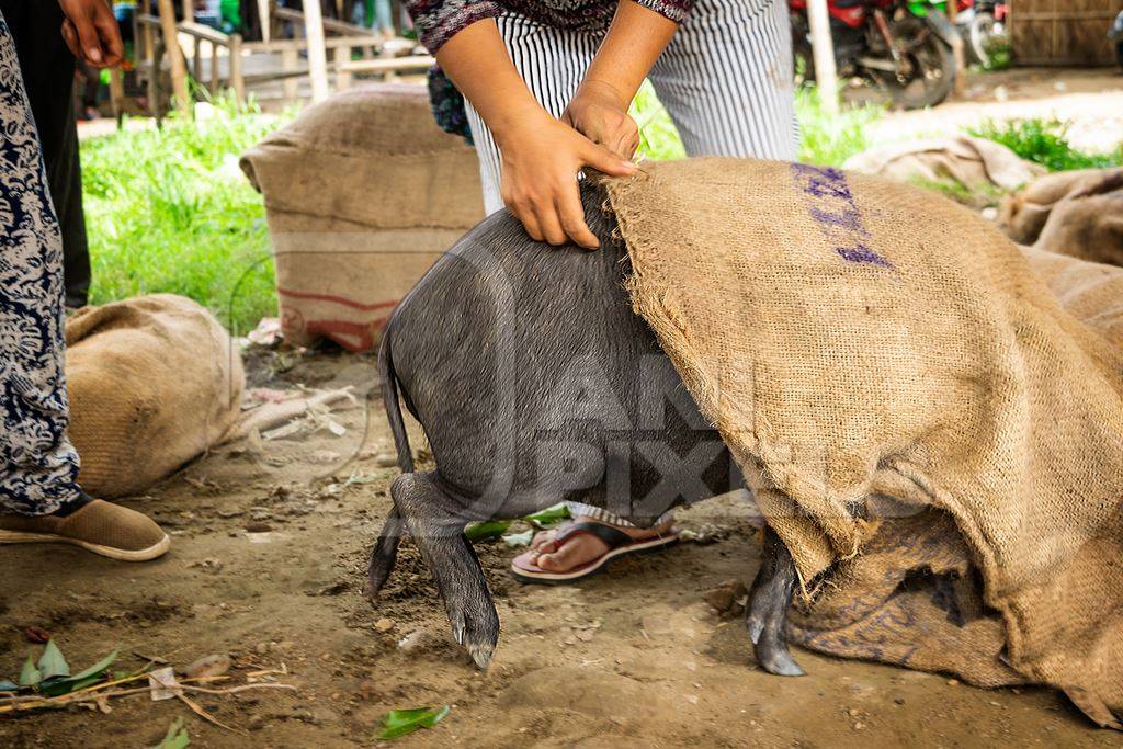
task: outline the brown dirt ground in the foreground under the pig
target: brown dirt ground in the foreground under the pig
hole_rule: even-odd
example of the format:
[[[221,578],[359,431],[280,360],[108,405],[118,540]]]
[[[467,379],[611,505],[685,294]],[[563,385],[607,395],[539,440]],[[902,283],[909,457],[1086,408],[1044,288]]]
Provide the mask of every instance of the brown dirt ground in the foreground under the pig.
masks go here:
[[[921,674],[796,650],[809,676],[760,672],[740,621],[703,592],[750,579],[759,552],[748,512],[728,499],[681,515],[711,542],[624,560],[567,587],[522,586],[514,554],[477,546],[503,633],[486,673],[463,656],[416,549],[403,545],[377,610],[363,599],[366,556],[395,475],[369,358],[257,355],[253,386],[354,385],[346,427],[214,450],[149,495],[125,504],[173,535],[144,565],[65,546],[0,547],[0,675],[54,634],[76,666],[120,648],[183,666],[227,652],[249,668],[285,668],[295,693],[199,695],[218,720],[147,695],[108,714],[64,711],[0,718],[0,747],[146,747],[183,716],[197,747],[347,747],[372,743],[389,710],[451,705],[402,746],[1123,746],[1057,693],[982,691]],[[336,432],[339,430],[336,429]],[[407,645],[399,642],[405,639]],[[241,676],[239,676],[241,678]]]

